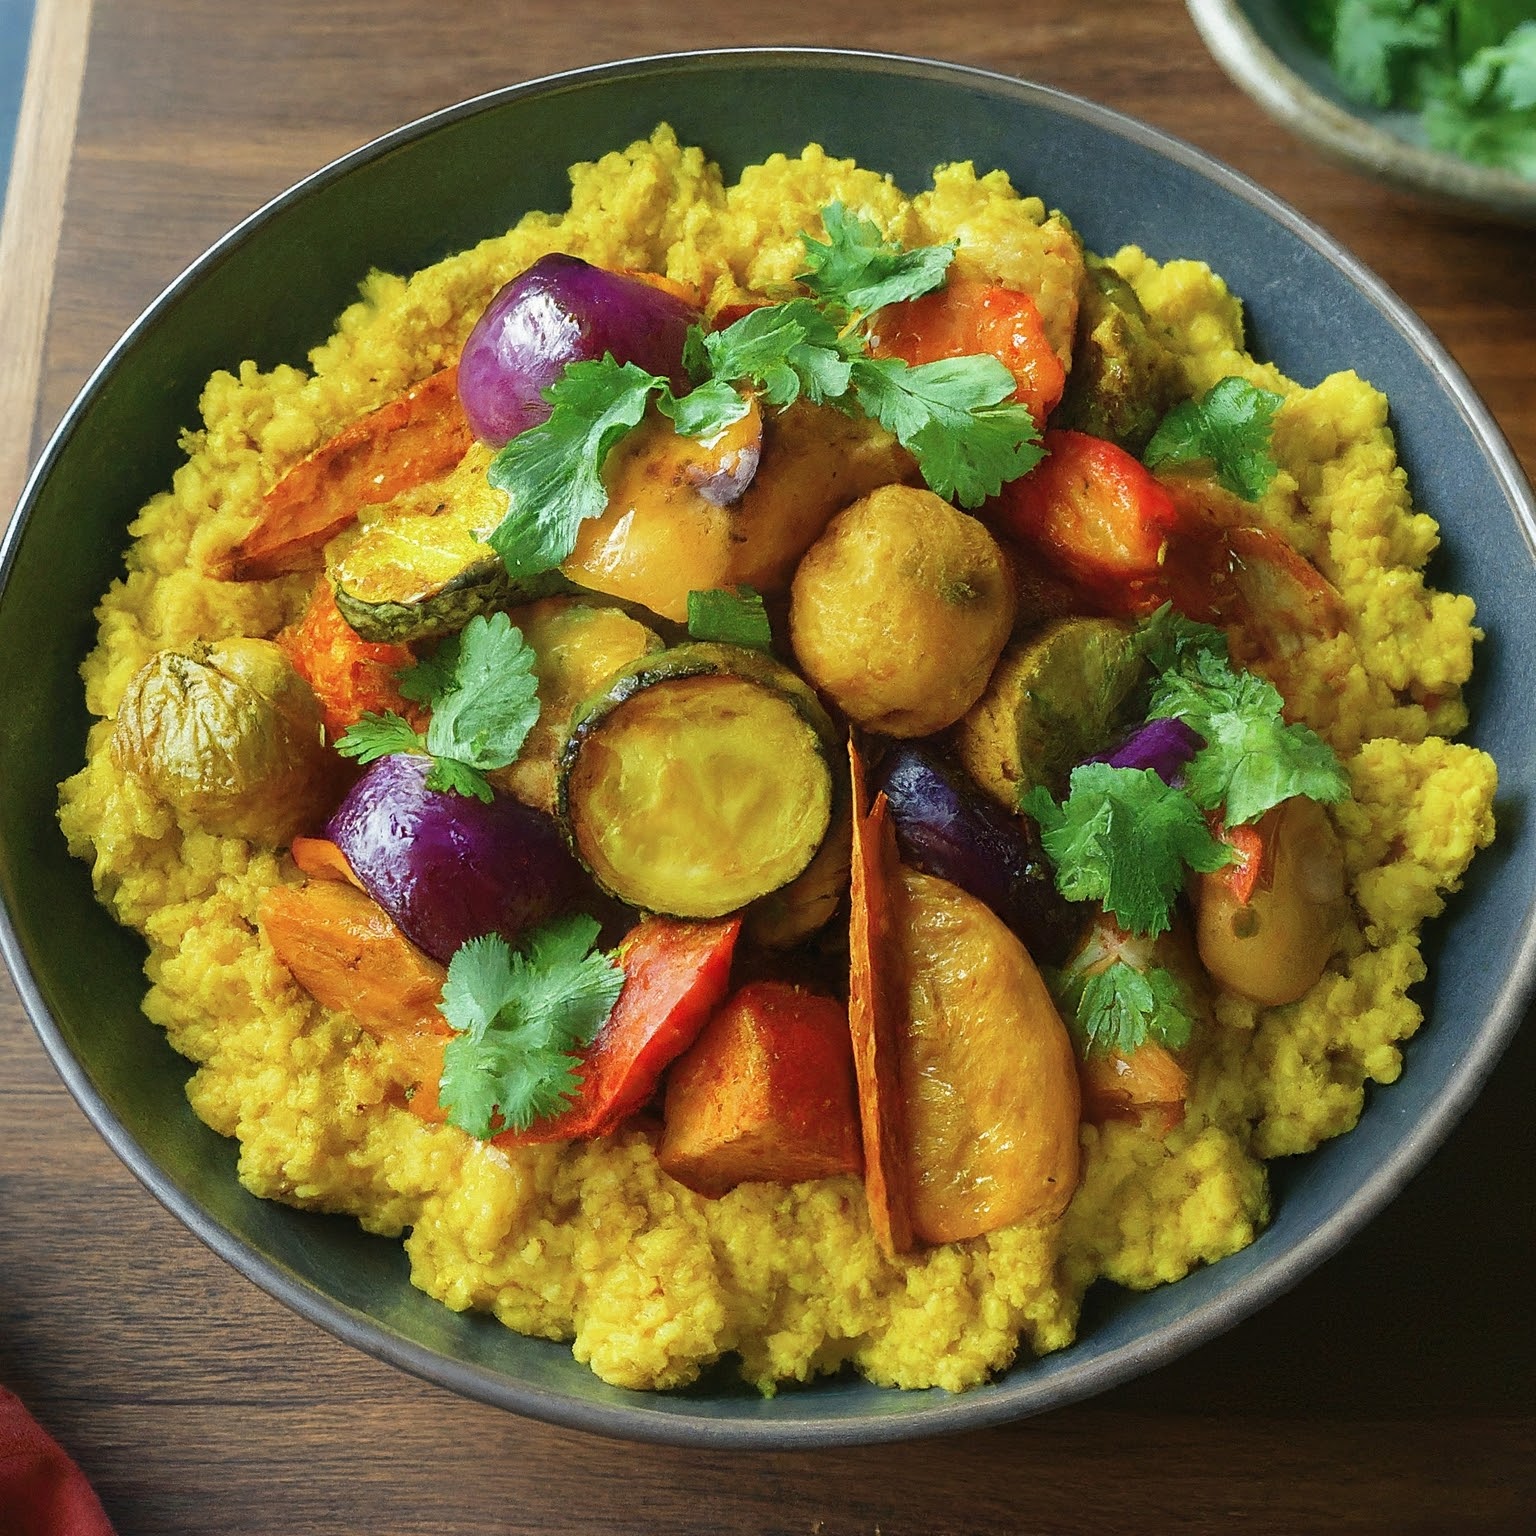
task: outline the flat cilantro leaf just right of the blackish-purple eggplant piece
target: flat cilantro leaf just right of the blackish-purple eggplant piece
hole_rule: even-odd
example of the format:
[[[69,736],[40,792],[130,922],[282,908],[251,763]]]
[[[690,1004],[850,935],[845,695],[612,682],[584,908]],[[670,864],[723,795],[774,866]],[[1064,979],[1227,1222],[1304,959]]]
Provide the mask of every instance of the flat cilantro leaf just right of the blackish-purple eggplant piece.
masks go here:
[[[1069,902],[1101,902],[1135,934],[1169,928],[1186,868],[1209,872],[1233,859],[1189,794],[1150,768],[1083,763],[1060,806],[1037,785],[1021,809],[1040,823],[1057,889]]]

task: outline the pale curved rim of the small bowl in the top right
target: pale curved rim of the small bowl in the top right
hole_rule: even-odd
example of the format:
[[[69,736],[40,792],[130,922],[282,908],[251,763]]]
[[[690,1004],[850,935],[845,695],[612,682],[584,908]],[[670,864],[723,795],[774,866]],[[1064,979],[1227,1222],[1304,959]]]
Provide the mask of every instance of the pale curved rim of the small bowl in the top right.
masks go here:
[[[1232,81],[1313,149],[1402,192],[1519,223],[1536,221],[1536,181],[1425,149],[1322,95],[1249,20],[1241,0],[1184,0],[1195,31]]]

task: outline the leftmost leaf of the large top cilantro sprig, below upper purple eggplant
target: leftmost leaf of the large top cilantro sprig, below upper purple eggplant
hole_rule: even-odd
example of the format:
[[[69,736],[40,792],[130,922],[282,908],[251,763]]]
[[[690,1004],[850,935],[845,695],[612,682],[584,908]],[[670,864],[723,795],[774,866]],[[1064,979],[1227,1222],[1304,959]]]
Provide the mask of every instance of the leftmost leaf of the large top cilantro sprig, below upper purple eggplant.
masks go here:
[[[488,542],[513,576],[553,570],[576,548],[582,521],[602,516],[608,449],[641,424],[651,395],[665,386],[633,362],[605,356],[568,364],[544,392],[548,421],[519,432],[487,472],[510,498]]]

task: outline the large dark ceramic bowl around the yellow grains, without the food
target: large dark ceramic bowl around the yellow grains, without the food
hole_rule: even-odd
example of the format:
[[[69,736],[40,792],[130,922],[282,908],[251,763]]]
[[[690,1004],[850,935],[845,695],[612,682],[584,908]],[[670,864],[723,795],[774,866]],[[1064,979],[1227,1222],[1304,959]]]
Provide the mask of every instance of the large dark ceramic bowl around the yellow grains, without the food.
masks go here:
[[[1350,1135],[1273,1170],[1250,1249],[1147,1295],[1091,1296],[1077,1344],[965,1396],[837,1378],[760,1399],[720,1373],[690,1392],[607,1387],[570,1350],[429,1301],[398,1243],[247,1195],[235,1147],[183,1097],[187,1064],[140,1012],[143,948],[91,895],[55,831],[80,762],[75,668],[135,508],[170,479],[203,379],[255,356],[304,361],[370,266],[409,272],[561,207],[565,167],[660,120],[727,172],[817,140],[909,187],[972,158],[1071,212],[1087,243],[1198,257],[1249,306],[1255,350],[1315,382],[1355,367],[1387,390],[1419,504],[1442,519],[1435,578],[1476,594],[1488,641],[1473,740],[1499,760],[1498,845],[1428,938],[1428,1020],[1402,1080]],[[518,146],[508,155],[507,146]],[[358,1347],[519,1413],[637,1439],[826,1445],[997,1424],[1084,1398],[1232,1326],[1378,1212],[1467,1109],[1533,974],[1536,507],[1465,378],[1370,273],[1287,207],[1140,123],[1001,75],[814,51],[636,60],[515,86],[390,134],[249,218],[178,278],[101,364],[43,453],[5,542],[0,925],[45,1046],[143,1183],[258,1286]]]

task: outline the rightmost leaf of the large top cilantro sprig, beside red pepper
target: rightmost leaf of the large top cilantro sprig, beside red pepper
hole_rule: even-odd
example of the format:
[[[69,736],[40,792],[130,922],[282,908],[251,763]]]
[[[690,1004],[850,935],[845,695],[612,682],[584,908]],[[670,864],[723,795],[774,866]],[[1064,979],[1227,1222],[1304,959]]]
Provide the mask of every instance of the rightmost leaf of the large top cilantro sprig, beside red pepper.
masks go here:
[[[911,367],[900,358],[852,364],[859,406],[917,459],[929,488],[980,507],[1032,470],[1044,450],[1017,382],[997,358],[943,358]]]

